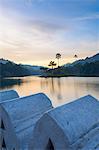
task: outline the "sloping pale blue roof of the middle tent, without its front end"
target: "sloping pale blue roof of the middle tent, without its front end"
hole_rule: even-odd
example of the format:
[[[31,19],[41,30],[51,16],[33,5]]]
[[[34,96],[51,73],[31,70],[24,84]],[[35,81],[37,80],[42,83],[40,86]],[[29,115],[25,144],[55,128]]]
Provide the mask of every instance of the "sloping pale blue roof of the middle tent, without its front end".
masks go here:
[[[10,118],[9,122],[13,127],[13,131],[12,128],[9,129],[10,132],[16,134],[18,141],[20,141],[21,149],[23,150],[27,149],[37,120],[44,112],[52,109],[51,101],[43,93],[6,101],[0,105]],[[2,118],[5,120],[3,115]]]

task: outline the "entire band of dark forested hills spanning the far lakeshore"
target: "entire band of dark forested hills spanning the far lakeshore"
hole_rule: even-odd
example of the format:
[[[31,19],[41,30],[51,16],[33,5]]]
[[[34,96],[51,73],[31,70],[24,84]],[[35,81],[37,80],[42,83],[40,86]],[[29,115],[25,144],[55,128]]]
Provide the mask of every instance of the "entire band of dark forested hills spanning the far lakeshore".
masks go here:
[[[0,77],[20,76],[98,76],[99,77],[99,53],[77,60],[71,64],[65,64],[59,68],[47,69],[42,66],[16,64],[12,61],[0,59]]]

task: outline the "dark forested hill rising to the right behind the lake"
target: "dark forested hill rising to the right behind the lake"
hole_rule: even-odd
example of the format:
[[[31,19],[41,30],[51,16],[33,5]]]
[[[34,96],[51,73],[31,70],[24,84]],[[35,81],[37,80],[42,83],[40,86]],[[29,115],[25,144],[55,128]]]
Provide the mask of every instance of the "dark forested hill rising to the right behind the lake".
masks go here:
[[[99,77],[99,53],[77,60],[73,63],[65,64],[48,72],[48,76],[98,76]]]

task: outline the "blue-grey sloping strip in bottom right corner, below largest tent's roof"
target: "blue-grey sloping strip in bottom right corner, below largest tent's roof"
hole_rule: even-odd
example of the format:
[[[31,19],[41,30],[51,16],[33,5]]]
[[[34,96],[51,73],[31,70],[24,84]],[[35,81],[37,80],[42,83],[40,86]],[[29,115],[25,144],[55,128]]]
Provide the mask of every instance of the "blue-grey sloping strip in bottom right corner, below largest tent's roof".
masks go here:
[[[71,147],[73,150],[99,150],[99,122]]]

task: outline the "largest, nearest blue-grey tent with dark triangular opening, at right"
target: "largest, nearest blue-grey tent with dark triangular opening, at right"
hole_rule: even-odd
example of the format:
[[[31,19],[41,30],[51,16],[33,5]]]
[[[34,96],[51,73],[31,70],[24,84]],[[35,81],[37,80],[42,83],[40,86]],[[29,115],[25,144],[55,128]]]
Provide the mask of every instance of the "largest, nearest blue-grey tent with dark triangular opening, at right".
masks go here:
[[[36,123],[29,149],[47,150],[50,139],[55,150],[72,150],[72,145],[97,123],[99,102],[90,95],[82,97],[45,113]],[[75,147],[73,150],[78,149]]]

